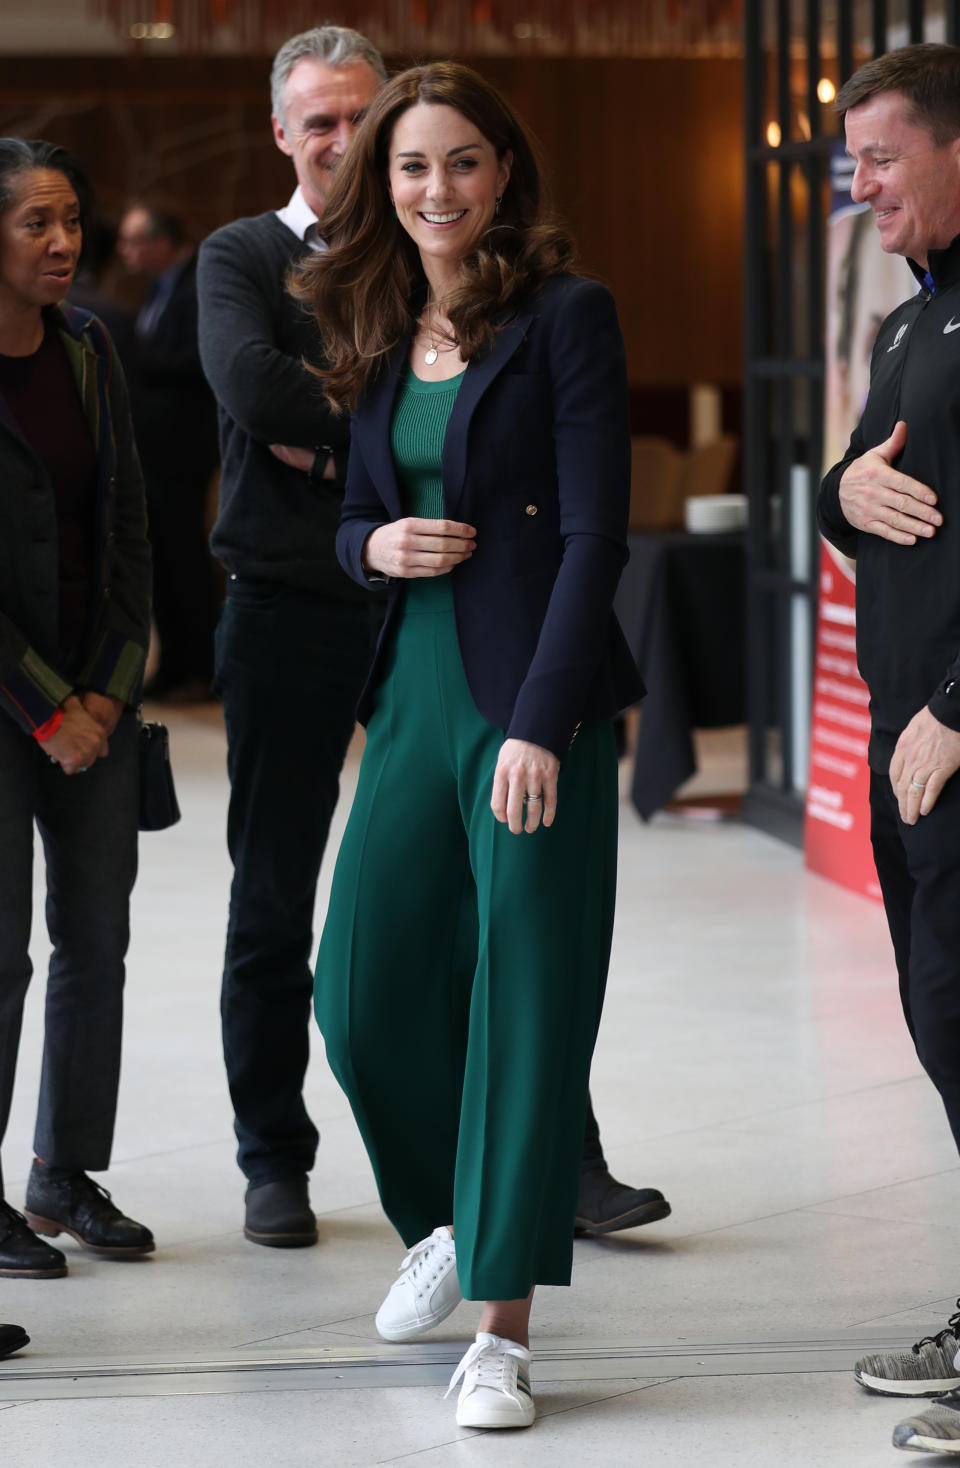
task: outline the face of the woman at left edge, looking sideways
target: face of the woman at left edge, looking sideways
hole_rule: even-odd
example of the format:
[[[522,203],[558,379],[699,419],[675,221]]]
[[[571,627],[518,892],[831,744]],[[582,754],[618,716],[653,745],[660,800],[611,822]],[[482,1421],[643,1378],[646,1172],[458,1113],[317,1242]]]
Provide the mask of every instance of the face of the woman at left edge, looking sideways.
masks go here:
[[[13,179],[13,200],[0,214],[0,310],[59,305],[82,245],[76,191],[57,169],[31,169]]]

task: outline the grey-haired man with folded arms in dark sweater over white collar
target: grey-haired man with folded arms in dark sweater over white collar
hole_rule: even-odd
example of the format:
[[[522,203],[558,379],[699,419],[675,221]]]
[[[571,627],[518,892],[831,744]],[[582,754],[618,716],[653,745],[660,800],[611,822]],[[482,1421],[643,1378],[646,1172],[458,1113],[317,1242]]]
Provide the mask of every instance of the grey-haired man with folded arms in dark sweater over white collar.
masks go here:
[[[233,862],[223,1054],[248,1182],[245,1233],[286,1248],[317,1238],[307,1189],[317,1130],[302,1098],[313,909],[379,597],[346,577],[333,550],[348,420],[330,413],[302,364],[320,342],[285,282],[317,248],[305,236],[385,75],[355,31],[292,37],[274,59],[272,94],[294,197],[216,230],[200,251],[200,351],[223,465],[211,534],[226,570],[214,687]]]

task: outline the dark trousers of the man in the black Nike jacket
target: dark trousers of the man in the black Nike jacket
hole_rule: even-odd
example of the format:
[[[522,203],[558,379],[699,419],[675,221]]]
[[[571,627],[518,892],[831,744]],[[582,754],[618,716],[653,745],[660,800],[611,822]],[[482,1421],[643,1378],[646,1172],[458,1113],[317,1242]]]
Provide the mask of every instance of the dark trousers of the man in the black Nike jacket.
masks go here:
[[[909,826],[888,775],[872,772],[870,840],[903,1013],[960,1148],[960,777]]]

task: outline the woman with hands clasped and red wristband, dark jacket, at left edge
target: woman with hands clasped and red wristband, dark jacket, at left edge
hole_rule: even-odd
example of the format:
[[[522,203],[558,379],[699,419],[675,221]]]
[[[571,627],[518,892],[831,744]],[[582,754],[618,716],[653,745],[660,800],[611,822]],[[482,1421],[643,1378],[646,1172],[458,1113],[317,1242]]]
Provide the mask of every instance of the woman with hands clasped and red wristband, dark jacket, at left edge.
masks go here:
[[[154,1248],[87,1177],[113,1141],[150,625],[123,374],[100,321],[65,305],[87,194],[63,148],[0,139],[0,1138],[31,978],[34,824],[53,948],[37,1157],[26,1220],[0,1186],[0,1276],[66,1274],[37,1233],[101,1255]]]

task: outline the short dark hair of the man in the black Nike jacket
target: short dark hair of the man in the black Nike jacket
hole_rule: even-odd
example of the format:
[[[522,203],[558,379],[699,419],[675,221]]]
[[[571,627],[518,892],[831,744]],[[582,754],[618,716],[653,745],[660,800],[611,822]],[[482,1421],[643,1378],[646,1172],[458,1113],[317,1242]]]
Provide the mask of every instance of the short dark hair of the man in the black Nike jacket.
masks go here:
[[[926,128],[937,147],[960,137],[960,47],[923,41],[875,56],[844,82],[834,112],[844,116],[882,92],[910,103],[912,122]]]

